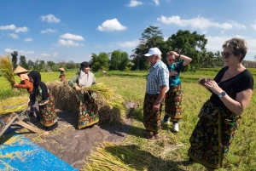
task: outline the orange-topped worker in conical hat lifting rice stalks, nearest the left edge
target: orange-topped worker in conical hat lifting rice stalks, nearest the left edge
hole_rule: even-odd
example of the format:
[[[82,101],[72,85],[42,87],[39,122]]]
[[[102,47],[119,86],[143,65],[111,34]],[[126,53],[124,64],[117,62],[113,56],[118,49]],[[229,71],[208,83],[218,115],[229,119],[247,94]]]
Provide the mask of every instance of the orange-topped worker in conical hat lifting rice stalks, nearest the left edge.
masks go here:
[[[26,88],[28,93],[32,93],[33,84],[29,81],[28,72],[25,68],[17,66],[14,73],[20,77],[20,83],[14,83],[12,86],[14,88]]]

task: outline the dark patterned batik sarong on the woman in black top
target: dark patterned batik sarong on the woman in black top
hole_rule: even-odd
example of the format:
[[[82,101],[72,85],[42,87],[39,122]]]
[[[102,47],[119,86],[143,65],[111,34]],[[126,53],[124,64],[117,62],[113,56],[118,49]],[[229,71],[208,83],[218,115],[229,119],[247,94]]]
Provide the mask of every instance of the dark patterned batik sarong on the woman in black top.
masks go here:
[[[221,168],[236,134],[241,116],[214,106],[209,100],[201,108],[200,120],[189,139],[189,157],[208,170]]]

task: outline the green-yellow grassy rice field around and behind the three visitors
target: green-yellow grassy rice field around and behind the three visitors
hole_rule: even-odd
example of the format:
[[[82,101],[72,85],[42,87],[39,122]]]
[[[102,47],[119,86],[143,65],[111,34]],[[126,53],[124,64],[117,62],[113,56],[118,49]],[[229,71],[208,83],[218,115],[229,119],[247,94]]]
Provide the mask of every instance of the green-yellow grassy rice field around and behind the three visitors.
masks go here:
[[[145,94],[146,76],[148,71],[108,71],[107,75],[102,72],[95,73],[97,82],[104,83],[116,89],[116,91],[127,101],[139,104],[137,110],[133,111],[131,131],[122,144],[116,146],[128,147],[133,153],[143,155],[148,161],[134,160],[119,153],[114,154],[113,149],[109,154],[118,157],[123,163],[135,168],[135,170],[204,170],[200,164],[188,162],[187,151],[189,148],[189,137],[195,124],[201,105],[209,98],[210,93],[197,84],[200,77],[215,77],[219,69],[207,69],[196,72],[181,73],[183,88],[183,119],[180,121],[180,131],[172,132],[172,125],[163,127],[161,140],[147,140],[146,131],[143,127],[143,98]],[[253,73],[256,80],[256,69],[248,69]],[[67,71],[67,79],[73,77],[75,71]],[[42,80],[49,82],[59,77],[59,72],[41,73]],[[16,81],[19,78],[16,77]],[[11,88],[0,77],[0,100],[14,96]],[[23,92],[26,93],[26,92]],[[236,132],[235,139],[230,145],[230,151],[224,159],[224,168],[218,170],[247,171],[256,168],[256,103],[255,86],[253,97],[247,110],[242,113],[241,125]],[[21,94],[21,93],[20,93]],[[19,95],[19,94],[18,94]],[[163,117],[163,115],[162,115]],[[119,149],[120,149],[119,148]],[[122,149],[122,148],[121,148]],[[132,156],[131,156],[132,157]]]

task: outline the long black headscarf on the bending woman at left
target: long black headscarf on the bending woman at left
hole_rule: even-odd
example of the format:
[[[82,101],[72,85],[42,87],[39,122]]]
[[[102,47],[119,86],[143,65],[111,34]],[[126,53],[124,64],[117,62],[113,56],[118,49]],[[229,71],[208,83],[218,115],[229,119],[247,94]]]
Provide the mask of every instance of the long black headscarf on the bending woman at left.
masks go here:
[[[36,102],[36,98],[38,95],[38,86],[42,89],[42,100],[47,100],[49,97],[48,94],[48,88],[45,85],[45,83],[41,82],[41,75],[38,71],[31,71],[28,74],[28,77],[31,77],[34,81],[33,86],[33,92],[30,94],[30,104],[29,105],[34,105]]]

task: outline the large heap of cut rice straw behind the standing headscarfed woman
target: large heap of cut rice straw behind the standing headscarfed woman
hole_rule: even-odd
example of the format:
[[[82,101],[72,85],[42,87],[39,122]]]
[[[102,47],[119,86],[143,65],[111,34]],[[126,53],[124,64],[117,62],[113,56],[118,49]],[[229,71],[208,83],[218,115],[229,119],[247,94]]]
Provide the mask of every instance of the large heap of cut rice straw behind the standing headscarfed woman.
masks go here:
[[[46,83],[50,93],[55,98],[55,107],[62,111],[78,113],[79,103],[77,92],[71,88],[67,81],[54,81]],[[99,109],[99,123],[119,124],[125,122],[126,107],[121,96],[102,83],[84,88],[84,91],[97,94]]]

